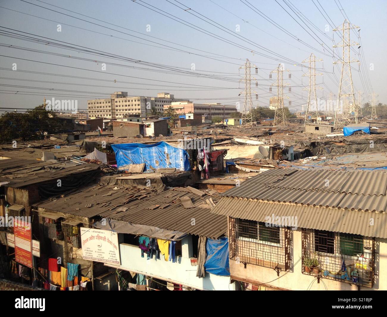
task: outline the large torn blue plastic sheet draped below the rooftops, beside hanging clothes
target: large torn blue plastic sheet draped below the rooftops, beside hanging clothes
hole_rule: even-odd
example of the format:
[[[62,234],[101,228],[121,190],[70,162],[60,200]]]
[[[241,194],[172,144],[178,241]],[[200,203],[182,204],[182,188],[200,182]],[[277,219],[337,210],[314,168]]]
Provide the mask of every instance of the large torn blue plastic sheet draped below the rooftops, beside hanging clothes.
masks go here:
[[[158,168],[176,168],[178,171],[189,171],[188,153],[164,141],[154,144],[123,143],[112,144],[116,155],[117,167],[145,163],[144,171]],[[157,161],[157,162],[156,162]]]

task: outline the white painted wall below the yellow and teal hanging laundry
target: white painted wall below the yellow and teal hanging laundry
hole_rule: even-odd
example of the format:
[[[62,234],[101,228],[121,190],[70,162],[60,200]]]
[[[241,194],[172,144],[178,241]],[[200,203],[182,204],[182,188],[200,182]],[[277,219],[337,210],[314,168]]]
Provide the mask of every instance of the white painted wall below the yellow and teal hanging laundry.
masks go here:
[[[157,261],[154,257],[147,260],[146,254],[141,257],[138,246],[121,243],[120,268],[202,290],[235,290],[235,284],[229,284],[229,276],[205,273],[204,278],[196,277],[197,266],[192,266],[189,258],[190,241],[192,241],[190,236],[182,240],[182,256],[178,257],[175,263],[165,261],[163,255],[160,255],[160,260]]]

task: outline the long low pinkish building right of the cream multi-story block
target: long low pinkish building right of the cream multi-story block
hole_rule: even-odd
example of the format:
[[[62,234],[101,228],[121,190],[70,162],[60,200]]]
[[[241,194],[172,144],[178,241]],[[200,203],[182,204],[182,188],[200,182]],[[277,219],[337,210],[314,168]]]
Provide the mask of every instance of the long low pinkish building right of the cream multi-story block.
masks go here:
[[[220,103],[194,103],[192,101],[171,102],[170,105],[164,105],[164,110],[171,106],[176,114],[209,114],[219,115],[228,118],[229,114],[235,113],[235,105],[222,105]]]

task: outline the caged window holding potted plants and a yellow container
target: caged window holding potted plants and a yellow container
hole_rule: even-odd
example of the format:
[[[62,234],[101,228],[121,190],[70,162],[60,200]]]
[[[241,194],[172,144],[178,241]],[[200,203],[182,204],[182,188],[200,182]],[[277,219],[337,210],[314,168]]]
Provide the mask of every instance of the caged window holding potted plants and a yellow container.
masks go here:
[[[375,238],[302,229],[302,273],[372,287]]]

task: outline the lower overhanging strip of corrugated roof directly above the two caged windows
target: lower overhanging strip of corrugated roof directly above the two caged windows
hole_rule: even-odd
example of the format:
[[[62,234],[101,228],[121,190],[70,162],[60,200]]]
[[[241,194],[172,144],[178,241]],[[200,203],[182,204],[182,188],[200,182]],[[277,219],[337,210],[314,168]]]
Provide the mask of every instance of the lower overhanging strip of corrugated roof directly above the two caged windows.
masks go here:
[[[334,232],[361,234],[387,238],[387,214],[320,208],[284,203],[224,197],[211,212],[234,218],[270,222],[267,217],[295,216],[298,228],[320,229]],[[373,225],[371,225],[373,219]]]

